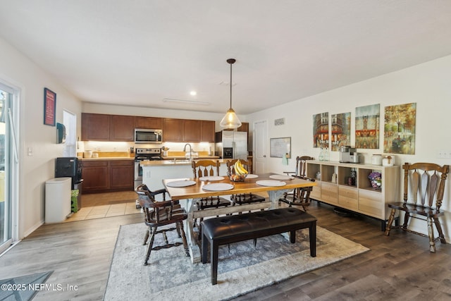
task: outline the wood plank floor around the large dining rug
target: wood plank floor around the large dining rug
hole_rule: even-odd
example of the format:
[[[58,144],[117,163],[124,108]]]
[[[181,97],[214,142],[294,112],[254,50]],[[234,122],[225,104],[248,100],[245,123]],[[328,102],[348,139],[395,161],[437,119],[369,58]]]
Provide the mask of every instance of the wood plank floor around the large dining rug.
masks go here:
[[[316,202],[309,213],[371,250],[237,300],[450,300],[451,245],[437,242],[431,254],[428,238],[398,230],[386,237],[378,221],[338,216]],[[0,279],[54,271],[47,283],[78,289],[42,290],[34,300],[102,300],[119,226],[141,221],[129,214],[41,226],[0,257]]]

